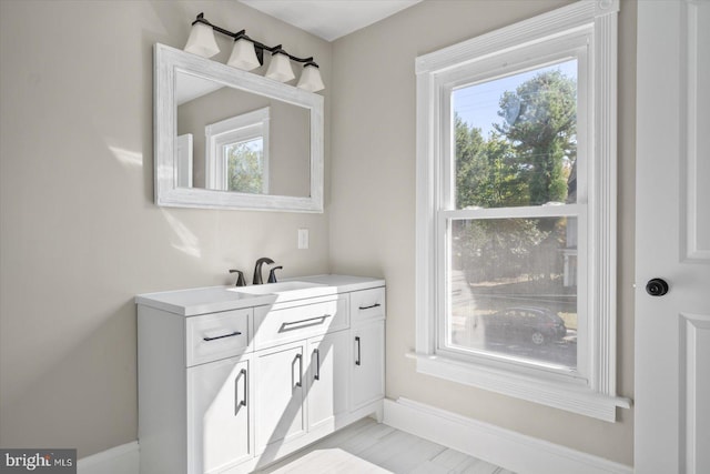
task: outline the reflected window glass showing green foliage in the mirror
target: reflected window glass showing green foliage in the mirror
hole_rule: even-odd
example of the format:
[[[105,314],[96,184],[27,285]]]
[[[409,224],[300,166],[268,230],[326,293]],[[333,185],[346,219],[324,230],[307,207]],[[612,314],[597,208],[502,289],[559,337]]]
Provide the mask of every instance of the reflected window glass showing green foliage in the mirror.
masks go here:
[[[227,191],[264,193],[264,141],[256,138],[224,145]]]

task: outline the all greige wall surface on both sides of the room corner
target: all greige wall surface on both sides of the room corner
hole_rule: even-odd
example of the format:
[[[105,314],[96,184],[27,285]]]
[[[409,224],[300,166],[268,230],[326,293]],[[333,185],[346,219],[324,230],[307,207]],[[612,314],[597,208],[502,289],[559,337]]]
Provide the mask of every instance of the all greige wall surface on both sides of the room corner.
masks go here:
[[[423,376],[404,357],[415,341],[414,60],[562,3],[429,0],[329,44],[235,1],[0,0],[0,445],[87,456],[134,441],[133,295],[230,283],[229,269],[268,255],[285,275],[387,279],[387,396],[631,464],[632,411],[597,422]],[[200,11],[322,65],[325,214],[153,204],[152,44],[182,48]],[[632,396],[633,0],[620,20],[619,386]],[[311,250],[296,250],[301,226]]]

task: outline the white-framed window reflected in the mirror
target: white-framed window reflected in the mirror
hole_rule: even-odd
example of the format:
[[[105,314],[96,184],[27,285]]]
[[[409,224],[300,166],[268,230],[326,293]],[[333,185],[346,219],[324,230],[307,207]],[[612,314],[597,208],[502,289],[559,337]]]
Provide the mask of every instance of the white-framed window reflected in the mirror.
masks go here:
[[[268,194],[268,108],[205,127],[207,189]]]

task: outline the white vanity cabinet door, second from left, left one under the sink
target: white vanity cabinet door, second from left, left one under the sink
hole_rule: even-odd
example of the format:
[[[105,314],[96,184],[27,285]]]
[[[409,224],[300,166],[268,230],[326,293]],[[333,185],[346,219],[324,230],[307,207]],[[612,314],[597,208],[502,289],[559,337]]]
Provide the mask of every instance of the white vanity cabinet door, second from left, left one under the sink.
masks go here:
[[[302,344],[288,344],[254,354],[257,453],[305,432],[303,352]]]

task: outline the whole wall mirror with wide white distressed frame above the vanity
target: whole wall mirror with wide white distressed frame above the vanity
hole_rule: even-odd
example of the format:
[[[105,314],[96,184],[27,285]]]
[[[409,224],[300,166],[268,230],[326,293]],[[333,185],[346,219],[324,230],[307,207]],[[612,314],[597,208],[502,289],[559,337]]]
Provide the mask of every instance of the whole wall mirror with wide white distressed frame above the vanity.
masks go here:
[[[323,97],[154,47],[155,203],[323,212]]]

